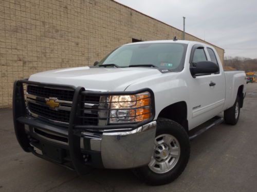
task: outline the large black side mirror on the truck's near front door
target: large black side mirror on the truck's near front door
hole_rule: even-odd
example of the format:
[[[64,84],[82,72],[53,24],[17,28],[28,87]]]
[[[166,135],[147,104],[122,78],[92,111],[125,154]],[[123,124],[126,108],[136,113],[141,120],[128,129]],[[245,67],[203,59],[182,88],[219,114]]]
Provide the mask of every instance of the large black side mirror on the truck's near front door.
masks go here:
[[[198,75],[208,75],[212,73],[218,73],[219,68],[218,65],[211,61],[200,61],[196,63],[192,63],[192,67],[190,67],[190,72],[192,76]]]

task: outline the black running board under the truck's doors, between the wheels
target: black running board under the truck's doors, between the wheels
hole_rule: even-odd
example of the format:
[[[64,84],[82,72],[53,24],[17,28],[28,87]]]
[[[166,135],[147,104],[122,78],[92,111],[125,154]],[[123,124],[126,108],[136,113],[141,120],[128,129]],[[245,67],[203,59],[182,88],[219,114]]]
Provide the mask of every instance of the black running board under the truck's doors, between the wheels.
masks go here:
[[[202,133],[206,132],[207,130],[209,130],[211,127],[213,127],[215,125],[218,125],[218,124],[222,123],[223,121],[224,121],[224,119],[222,117],[217,117],[217,116],[214,117],[213,119],[210,119],[209,121],[206,121],[202,125],[199,125],[199,126],[197,126],[196,128],[193,129],[193,130],[196,129],[198,131],[196,131],[192,135],[190,135],[189,139],[190,140],[194,139],[195,137],[197,137],[200,134],[202,134]]]

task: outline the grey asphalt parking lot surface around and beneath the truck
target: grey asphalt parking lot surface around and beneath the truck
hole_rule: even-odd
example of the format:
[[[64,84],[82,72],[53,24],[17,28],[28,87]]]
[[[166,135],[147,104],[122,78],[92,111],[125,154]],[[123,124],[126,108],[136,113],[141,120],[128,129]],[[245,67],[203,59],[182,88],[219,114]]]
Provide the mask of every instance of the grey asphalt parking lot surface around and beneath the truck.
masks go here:
[[[25,153],[11,109],[0,110],[0,191],[257,191],[257,83],[237,125],[222,123],[191,141],[185,172],[173,183],[148,186],[130,170],[94,169],[86,176]],[[136,157],[135,157],[136,158]]]

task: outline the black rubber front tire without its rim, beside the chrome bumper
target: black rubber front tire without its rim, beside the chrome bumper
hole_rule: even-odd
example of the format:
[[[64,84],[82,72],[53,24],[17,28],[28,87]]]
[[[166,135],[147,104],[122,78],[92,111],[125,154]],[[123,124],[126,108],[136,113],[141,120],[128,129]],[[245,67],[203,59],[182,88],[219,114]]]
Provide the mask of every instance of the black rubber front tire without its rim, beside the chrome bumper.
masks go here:
[[[174,136],[180,145],[180,156],[176,165],[167,173],[155,173],[148,165],[136,168],[135,175],[149,185],[163,185],[175,180],[187,166],[190,156],[190,141],[185,129],[175,121],[159,118],[157,119],[156,137],[162,134]]]

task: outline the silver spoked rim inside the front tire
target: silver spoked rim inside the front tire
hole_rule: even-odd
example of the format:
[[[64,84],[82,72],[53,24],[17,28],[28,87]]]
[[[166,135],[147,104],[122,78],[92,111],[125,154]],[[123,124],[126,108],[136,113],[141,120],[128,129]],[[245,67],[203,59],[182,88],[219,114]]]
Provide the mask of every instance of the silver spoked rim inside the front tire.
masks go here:
[[[177,164],[179,156],[178,140],[172,135],[162,134],[155,138],[154,154],[148,166],[155,173],[167,173]]]

